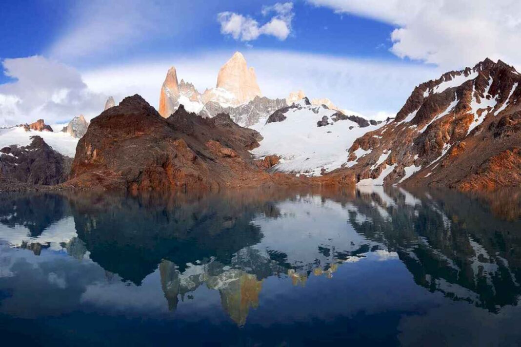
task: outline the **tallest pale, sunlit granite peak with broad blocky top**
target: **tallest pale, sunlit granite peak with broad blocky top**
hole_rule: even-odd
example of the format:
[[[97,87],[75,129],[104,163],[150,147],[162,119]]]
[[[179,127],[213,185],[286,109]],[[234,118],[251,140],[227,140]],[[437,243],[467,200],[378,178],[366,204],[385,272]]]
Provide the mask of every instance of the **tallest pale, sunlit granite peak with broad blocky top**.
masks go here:
[[[221,67],[216,87],[232,93],[237,105],[253,100],[255,96],[262,96],[255,70],[247,67],[246,59],[240,52],[235,52]]]

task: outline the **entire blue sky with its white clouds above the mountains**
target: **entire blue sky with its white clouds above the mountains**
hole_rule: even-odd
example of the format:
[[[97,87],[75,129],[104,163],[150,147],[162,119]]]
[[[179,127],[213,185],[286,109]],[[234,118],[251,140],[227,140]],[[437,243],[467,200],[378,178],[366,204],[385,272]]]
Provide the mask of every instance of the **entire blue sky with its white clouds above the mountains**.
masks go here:
[[[303,89],[381,118],[444,71],[487,56],[517,65],[519,18],[512,0],[4,1],[0,124],[35,110],[56,121],[92,117],[107,95],[140,93],[156,106],[170,66],[204,89],[235,50],[269,97]],[[46,81],[29,73],[38,69],[51,69]],[[45,105],[26,101],[28,88]],[[66,107],[71,90],[77,100]],[[85,95],[92,100],[79,102]]]

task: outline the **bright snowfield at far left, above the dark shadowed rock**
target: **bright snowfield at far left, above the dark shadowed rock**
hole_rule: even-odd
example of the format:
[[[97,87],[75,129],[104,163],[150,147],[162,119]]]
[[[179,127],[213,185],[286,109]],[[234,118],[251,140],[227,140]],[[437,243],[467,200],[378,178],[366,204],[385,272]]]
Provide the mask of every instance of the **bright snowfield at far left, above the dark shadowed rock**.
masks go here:
[[[28,146],[31,143],[30,137],[34,135],[42,137],[49,146],[62,155],[74,158],[79,139],[64,132],[25,131],[19,126],[0,128],[0,148],[10,145]]]

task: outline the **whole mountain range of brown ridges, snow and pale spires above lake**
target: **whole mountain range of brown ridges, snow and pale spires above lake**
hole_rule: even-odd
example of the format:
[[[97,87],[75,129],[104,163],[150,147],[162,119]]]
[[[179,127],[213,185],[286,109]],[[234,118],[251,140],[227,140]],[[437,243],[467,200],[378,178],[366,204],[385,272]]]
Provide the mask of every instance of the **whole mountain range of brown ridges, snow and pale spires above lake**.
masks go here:
[[[264,97],[238,52],[203,93],[171,67],[158,111],[138,95],[119,106],[110,97],[90,124],[80,115],[64,127],[76,138],[67,186],[517,186],[520,83],[512,66],[485,59],[421,83],[395,118],[377,122],[302,91]],[[22,132],[54,136],[39,120],[0,130],[0,147],[29,145],[11,136]],[[51,146],[60,151],[60,141]]]

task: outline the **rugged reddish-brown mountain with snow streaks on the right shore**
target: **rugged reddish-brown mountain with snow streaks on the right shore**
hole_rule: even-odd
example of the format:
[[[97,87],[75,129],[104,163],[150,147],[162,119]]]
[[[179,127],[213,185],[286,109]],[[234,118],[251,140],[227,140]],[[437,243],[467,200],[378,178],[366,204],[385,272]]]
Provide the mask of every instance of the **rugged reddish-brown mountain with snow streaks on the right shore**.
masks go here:
[[[521,75],[485,59],[417,86],[349,149],[358,185],[483,189],[521,182]]]

